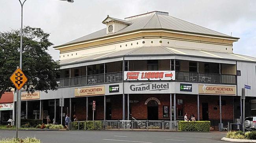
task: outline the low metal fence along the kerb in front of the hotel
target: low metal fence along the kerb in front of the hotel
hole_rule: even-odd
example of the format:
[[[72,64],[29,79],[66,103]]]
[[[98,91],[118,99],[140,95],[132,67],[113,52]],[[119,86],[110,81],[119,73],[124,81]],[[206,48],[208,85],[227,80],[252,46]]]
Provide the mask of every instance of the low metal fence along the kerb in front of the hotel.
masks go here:
[[[177,121],[75,121],[70,123],[70,130],[177,130]]]

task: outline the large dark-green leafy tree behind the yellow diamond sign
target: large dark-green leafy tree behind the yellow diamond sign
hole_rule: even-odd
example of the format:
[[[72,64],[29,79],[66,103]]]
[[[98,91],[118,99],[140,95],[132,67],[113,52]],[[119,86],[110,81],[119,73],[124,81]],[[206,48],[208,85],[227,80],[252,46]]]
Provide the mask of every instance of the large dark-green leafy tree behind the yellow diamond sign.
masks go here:
[[[26,26],[23,29],[22,71],[28,77],[26,91],[55,90],[58,61],[48,54],[49,33],[41,28]],[[0,98],[5,91],[14,88],[9,77],[19,66],[20,29],[0,32]],[[33,86],[28,86],[33,85]]]

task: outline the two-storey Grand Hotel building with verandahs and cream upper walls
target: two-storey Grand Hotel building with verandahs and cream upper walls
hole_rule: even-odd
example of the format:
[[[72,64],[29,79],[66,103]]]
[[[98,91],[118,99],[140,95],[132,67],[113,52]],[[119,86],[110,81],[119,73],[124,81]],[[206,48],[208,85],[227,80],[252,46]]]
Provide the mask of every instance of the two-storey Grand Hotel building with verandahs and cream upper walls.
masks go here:
[[[161,11],[107,16],[102,24],[106,28],[54,47],[58,90],[23,92],[22,118],[46,122],[49,115],[61,123],[68,113],[92,120],[95,101],[96,120],[175,121],[187,112],[217,126],[241,118],[245,85],[245,115],[256,115],[256,58],[233,53],[239,38]]]

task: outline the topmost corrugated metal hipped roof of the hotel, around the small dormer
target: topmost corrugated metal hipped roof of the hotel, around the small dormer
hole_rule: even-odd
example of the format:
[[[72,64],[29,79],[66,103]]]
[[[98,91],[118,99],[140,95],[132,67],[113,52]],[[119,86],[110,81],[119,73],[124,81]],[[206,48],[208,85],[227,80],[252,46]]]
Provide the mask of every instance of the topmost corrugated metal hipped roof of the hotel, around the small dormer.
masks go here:
[[[117,18],[112,18],[112,19],[120,21],[120,19],[117,19]],[[122,20],[122,21],[127,22],[126,20]],[[178,19],[178,18],[174,18],[173,16],[162,15],[162,14],[158,14],[158,13],[135,18],[135,19],[129,20],[129,22],[131,22],[132,24],[121,29],[120,31],[117,31],[114,34],[111,34],[111,36],[114,36],[115,34],[127,33],[130,31],[136,31],[136,30],[141,30],[141,29],[150,29],[150,30],[167,29],[167,30],[172,30],[172,31],[181,31],[181,32],[183,31],[183,32],[188,32],[188,33],[208,34],[208,35],[234,38],[229,35],[219,33],[217,31],[213,31],[211,29],[208,29],[208,28],[196,25],[196,24],[192,24],[190,22],[186,22],[186,21]],[[92,40],[95,38],[103,38],[105,36],[109,36],[108,34],[106,34],[106,28],[102,29],[100,31],[96,31],[94,33],[88,34],[88,35],[78,38],[76,40],[72,40],[63,45]],[[59,47],[59,46],[56,46],[56,47]]]

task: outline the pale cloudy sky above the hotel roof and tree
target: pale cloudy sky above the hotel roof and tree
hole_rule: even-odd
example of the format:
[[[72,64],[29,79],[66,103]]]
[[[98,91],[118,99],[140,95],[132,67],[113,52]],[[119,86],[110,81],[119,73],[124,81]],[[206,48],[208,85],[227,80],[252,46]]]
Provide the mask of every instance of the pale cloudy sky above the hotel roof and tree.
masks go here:
[[[24,25],[41,27],[60,45],[93,33],[105,25],[107,15],[119,19],[165,11],[169,15],[203,27],[239,37],[234,53],[256,57],[256,0],[27,0]],[[18,0],[0,0],[0,31],[20,28]],[[59,51],[49,53],[59,59]]]

